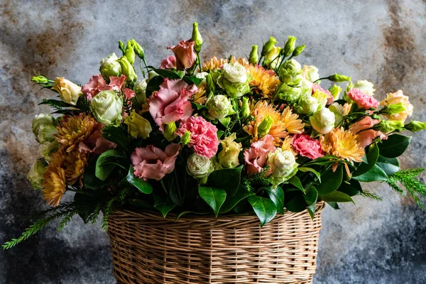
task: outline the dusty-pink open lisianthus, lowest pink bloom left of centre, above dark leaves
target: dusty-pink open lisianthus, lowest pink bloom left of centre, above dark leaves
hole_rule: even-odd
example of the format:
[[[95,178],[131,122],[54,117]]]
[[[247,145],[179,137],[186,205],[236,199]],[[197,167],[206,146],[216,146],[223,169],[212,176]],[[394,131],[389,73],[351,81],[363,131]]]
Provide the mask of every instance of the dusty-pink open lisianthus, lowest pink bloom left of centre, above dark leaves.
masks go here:
[[[153,145],[136,148],[130,157],[133,174],[144,180],[161,180],[175,169],[179,149],[180,145],[176,143],[166,146],[164,151]]]

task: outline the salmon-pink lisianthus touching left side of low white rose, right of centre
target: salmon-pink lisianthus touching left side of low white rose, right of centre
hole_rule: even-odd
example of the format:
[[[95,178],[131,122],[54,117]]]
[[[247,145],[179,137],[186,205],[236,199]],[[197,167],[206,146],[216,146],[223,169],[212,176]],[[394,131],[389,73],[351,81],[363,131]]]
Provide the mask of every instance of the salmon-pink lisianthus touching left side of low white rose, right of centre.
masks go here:
[[[266,165],[266,160],[268,160],[268,153],[276,150],[275,146],[273,146],[273,141],[273,136],[268,134],[252,143],[249,149],[244,150],[244,160],[246,161],[249,175],[261,173],[261,170]]]

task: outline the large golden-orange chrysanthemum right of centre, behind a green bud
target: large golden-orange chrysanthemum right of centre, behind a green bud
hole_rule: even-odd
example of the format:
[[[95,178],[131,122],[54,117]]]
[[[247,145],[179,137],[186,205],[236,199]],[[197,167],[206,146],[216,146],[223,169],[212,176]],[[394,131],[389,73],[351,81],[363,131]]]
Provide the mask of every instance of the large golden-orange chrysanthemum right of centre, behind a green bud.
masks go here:
[[[251,115],[254,117],[254,120],[250,121],[243,129],[246,133],[253,136],[252,141],[257,141],[258,138],[261,138],[258,136],[258,126],[268,116],[270,116],[273,121],[268,134],[275,138],[275,145],[277,146],[282,145],[283,141],[281,139],[288,136],[288,133],[302,133],[305,127],[305,124],[302,123],[301,119],[298,119],[299,116],[297,114],[293,114],[290,107],[280,112],[266,101],[259,101],[254,107],[252,103]]]

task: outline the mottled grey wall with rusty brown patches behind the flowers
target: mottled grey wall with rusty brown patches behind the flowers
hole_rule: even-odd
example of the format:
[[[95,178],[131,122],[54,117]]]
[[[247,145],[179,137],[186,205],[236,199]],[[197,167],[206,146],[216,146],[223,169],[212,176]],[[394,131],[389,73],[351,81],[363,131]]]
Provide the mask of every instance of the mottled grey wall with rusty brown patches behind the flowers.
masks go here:
[[[403,89],[426,121],[425,1],[9,1],[0,4],[0,243],[17,236],[26,214],[43,208],[26,173],[38,145],[31,119],[53,94],[29,82],[34,71],[84,84],[98,62],[135,38],[148,62],[190,38],[200,23],[204,56],[246,55],[253,43],[287,35],[307,45],[300,62],[320,75],[341,72],[376,83],[376,96]],[[155,63],[157,62],[157,63]],[[403,167],[425,167],[426,133],[413,138]],[[424,176],[423,176],[424,177]],[[366,185],[383,202],[356,198],[324,211],[314,283],[426,283],[426,213],[386,185]],[[0,252],[0,283],[114,283],[107,234],[72,221],[48,226]]]

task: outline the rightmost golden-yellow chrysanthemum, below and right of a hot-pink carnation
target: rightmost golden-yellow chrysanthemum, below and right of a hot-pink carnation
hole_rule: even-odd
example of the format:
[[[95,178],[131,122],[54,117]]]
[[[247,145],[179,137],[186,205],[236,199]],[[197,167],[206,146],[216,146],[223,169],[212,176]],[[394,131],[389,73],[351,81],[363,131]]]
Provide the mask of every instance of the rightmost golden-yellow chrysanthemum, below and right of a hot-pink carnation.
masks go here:
[[[364,148],[356,141],[356,134],[345,131],[343,127],[320,136],[320,143],[322,151],[328,155],[335,155],[349,162],[361,162],[365,154]]]

